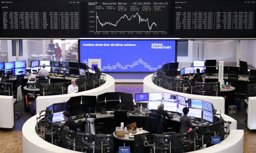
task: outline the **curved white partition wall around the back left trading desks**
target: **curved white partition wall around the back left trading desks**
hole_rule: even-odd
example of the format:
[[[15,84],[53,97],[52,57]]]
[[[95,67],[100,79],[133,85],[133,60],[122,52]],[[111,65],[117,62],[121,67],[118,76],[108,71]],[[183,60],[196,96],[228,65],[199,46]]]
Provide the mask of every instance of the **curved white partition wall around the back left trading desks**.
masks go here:
[[[73,93],[73,94],[62,94],[62,95],[52,95],[52,96],[38,96],[36,98],[36,114],[41,110],[45,110],[47,106],[50,106],[54,103],[59,103],[63,101],[68,101],[70,97],[81,96],[81,95],[90,95],[97,96],[104,94],[106,92],[115,92],[115,79],[110,75],[106,74],[106,82],[95,89]]]

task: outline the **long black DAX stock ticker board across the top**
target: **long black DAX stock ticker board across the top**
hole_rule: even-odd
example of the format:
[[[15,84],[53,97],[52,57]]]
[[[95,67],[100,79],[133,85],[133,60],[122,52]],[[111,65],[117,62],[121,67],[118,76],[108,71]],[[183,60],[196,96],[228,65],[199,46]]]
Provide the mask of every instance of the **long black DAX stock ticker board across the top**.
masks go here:
[[[1,38],[255,38],[256,1],[1,1]]]

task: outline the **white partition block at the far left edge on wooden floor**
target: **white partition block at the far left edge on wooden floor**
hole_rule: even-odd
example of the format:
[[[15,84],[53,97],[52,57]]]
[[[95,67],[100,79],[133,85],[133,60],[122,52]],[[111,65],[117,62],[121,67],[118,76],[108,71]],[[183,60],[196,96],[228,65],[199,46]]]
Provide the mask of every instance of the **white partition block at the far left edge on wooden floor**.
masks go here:
[[[12,129],[14,126],[13,96],[0,95],[0,128]]]

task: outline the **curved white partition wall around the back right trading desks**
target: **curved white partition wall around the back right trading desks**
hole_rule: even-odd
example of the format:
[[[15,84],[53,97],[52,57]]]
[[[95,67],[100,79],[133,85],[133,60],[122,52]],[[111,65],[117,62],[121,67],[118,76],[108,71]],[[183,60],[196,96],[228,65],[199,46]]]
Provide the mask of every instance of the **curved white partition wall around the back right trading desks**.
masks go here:
[[[171,91],[168,89],[164,89],[162,87],[156,86],[153,81],[151,80],[151,77],[153,74],[150,74],[146,76],[143,80],[143,92],[144,93],[156,93],[156,92],[165,92],[165,93],[171,93],[171,94],[178,94],[180,96],[183,96],[188,100],[190,99],[198,99],[203,101],[211,102],[214,106],[214,108],[218,112],[225,112],[225,99],[223,97],[214,97],[214,96],[203,96],[203,95],[196,95],[196,94],[185,94],[185,93],[179,93],[175,91]]]

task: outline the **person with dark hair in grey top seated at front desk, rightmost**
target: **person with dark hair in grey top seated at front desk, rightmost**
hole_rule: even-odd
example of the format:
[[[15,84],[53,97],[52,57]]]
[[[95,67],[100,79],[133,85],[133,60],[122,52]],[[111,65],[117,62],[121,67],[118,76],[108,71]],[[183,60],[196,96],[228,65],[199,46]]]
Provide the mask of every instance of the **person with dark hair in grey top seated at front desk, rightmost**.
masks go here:
[[[181,133],[186,133],[186,132],[188,132],[189,128],[201,126],[201,124],[199,124],[199,125],[193,125],[193,124],[191,123],[190,118],[187,116],[187,115],[188,115],[188,111],[189,111],[189,109],[188,109],[187,107],[184,107],[182,110],[183,110],[184,115],[182,115],[182,116],[180,117],[180,124],[181,124],[180,132],[181,132]]]

